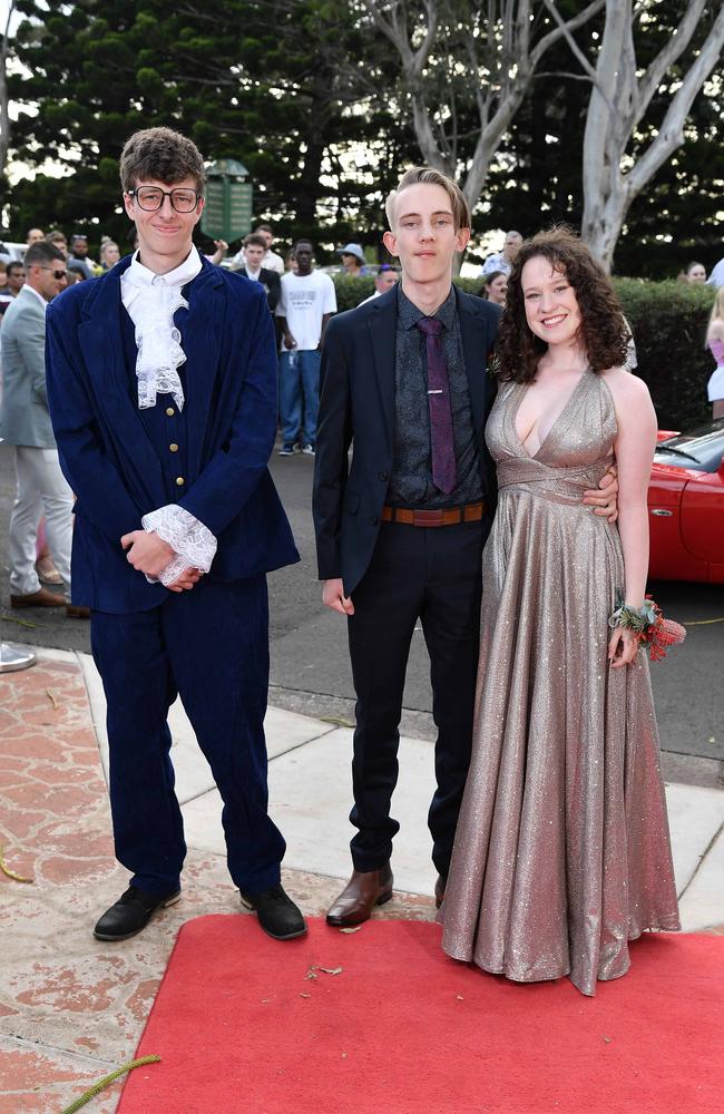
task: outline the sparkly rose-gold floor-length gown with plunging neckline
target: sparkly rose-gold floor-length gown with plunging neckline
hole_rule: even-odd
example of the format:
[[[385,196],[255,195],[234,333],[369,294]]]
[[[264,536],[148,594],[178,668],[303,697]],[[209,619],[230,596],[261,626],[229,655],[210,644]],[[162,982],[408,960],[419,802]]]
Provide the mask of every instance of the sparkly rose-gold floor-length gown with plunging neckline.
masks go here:
[[[593,995],[627,971],[628,940],[679,920],[648,661],[606,656],[618,530],[581,504],[613,459],[613,399],[585,372],[531,457],[515,426],[526,390],[505,384],[486,430],[499,502],[442,947]]]

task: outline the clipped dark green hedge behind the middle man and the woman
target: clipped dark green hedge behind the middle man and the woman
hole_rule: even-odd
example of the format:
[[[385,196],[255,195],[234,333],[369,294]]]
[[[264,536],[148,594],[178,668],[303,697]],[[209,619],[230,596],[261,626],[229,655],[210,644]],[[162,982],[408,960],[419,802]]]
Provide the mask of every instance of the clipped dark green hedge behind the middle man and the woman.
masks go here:
[[[351,310],[374,290],[370,277],[333,275],[337,305]],[[479,278],[459,278],[470,294]],[[714,370],[704,348],[706,323],[714,301],[711,286],[682,282],[615,278],[622,307],[634,332],[638,368],[652,392],[662,429],[687,429],[711,417],[706,382]]]

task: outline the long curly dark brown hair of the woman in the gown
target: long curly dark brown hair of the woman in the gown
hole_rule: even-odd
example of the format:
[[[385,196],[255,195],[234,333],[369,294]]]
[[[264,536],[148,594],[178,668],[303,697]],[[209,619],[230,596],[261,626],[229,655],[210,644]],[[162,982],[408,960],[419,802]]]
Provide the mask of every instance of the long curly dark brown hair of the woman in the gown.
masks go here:
[[[537,255],[566,276],[580,310],[580,341],[591,371],[626,363],[628,329],[608,275],[585,244],[567,226],[556,225],[525,241],[508,276],[506,310],[498,340],[498,373],[502,380],[529,383],[548,345],[531,332],[526,320],[522,268]]]

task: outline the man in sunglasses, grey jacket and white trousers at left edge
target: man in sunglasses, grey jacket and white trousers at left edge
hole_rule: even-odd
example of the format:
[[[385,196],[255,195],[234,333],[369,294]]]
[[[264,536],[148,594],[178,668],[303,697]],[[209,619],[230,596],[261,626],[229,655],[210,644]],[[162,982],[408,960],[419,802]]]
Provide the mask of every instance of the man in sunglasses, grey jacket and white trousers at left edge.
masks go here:
[[[67,263],[53,244],[26,252],[26,284],[2,323],[0,436],[16,446],[18,488],[10,517],[10,606],[67,607],[65,596],[40,585],[36,536],[41,515],[56,568],[70,586],[72,492],[60,471],[46,393],[46,306],[66,287]]]

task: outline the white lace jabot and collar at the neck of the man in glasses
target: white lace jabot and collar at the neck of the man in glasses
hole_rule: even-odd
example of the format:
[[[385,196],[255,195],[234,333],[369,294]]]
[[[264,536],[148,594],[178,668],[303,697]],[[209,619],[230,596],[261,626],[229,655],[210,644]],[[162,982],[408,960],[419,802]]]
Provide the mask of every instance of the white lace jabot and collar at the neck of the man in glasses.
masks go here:
[[[184,389],[177,368],[186,360],[180,346],[180,333],[174,314],[188,302],[182,286],[202,270],[202,257],[195,247],[187,258],[168,274],[157,275],[134,255],[120,276],[120,296],[136,330],[138,356],[138,405],[141,410],[156,405],[156,394],[173,394],[179,410],[184,408]]]

